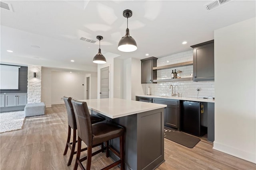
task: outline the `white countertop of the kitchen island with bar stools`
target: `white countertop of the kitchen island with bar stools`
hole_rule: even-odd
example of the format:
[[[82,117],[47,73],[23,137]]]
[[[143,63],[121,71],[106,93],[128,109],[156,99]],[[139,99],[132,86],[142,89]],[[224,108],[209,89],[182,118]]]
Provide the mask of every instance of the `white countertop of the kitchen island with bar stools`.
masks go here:
[[[86,102],[89,109],[92,109],[112,119],[167,107],[165,104],[138,102],[134,100],[118,98],[90,99],[79,101]]]

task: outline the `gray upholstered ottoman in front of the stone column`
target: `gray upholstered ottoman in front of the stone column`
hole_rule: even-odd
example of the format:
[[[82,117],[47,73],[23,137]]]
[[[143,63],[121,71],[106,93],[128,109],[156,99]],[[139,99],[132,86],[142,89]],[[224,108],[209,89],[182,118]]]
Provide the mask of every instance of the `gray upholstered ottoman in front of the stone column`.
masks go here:
[[[25,111],[25,117],[44,115],[45,104],[44,102],[29,103],[29,104],[26,104],[24,111]]]

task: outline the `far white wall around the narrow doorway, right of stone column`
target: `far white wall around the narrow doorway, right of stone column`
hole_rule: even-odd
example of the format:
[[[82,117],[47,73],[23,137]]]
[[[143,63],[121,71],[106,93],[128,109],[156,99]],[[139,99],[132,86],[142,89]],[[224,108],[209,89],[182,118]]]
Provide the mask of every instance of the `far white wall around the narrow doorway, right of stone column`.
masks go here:
[[[79,72],[79,73],[78,73]],[[85,99],[86,76],[90,77],[90,98],[97,98],[97,73],[72,72],[55,68],[42,67],[41,101],[46,107],[63,104],[63,96]],[[82,86],[84,84],[84,86]]]

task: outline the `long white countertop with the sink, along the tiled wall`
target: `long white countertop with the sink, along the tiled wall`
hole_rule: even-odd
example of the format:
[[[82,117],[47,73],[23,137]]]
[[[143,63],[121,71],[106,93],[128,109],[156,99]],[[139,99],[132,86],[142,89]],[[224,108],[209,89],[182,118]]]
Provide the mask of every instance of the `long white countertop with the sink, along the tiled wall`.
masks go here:
[[[162,96],[156,96],[156,95],[137,95],[140,97],[146,97],[146,98],[163,98],[163,99],[175,99],[175,100],[186,100],[186,101],[194,101],[194,102],[210,102],[214,103],[213,99],[204,99],[204,98],[187,98],[187,97],[162,97]]]

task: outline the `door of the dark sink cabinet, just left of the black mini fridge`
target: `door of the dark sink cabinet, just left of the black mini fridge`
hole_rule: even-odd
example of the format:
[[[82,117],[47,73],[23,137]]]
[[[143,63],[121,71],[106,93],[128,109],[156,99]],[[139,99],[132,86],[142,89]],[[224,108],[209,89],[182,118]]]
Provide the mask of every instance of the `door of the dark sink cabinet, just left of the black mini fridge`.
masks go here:
[[[165,113],[164,124],[168,127],[174,127],[178,129],[178,107],[167,106]]]

